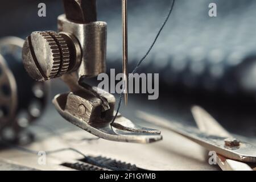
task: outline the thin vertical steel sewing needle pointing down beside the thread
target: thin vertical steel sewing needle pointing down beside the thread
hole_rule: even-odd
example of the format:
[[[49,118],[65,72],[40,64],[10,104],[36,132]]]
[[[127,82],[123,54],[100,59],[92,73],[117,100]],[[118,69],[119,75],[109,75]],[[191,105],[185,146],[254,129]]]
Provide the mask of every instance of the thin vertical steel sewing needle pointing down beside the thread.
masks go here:
[[[123,29],[123,85],[125,85],[125,105],[128,101],[128,40],[127,40],[127,0],[122,0],[122,29]]]

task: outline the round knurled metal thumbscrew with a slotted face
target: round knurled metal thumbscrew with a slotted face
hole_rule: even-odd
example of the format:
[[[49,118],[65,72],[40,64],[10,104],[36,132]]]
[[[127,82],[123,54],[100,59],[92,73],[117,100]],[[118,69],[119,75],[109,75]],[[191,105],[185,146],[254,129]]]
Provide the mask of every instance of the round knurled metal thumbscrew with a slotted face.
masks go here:
[[[32,32],[23,46],[23,64],[32,78],[45,81],[73,69],[73,52],[76,47],[70,36],[54,31]]]

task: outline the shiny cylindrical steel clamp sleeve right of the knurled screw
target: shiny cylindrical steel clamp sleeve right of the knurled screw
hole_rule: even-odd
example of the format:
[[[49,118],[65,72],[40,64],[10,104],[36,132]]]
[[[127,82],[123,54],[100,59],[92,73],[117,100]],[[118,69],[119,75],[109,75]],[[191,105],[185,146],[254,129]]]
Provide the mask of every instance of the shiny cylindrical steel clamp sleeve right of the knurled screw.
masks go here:
[[[82,50],[81,65],[77,69],[77,79],[94,77],[106,70],[106,36],[105,22],[87,24],[69,21],[65,15],[58,17],[60,32],[68,32],[77,38]]]

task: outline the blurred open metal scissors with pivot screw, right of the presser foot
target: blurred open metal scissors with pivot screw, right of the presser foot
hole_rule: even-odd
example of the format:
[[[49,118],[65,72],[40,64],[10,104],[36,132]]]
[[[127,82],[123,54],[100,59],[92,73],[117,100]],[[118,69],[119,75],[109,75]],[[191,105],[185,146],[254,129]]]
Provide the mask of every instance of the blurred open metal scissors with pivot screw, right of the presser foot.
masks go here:
[[[180,134],[200,144],[208,151],[215,151],[216,162],[222,170],[256,171],[256,146],[254,144],[234,138],[200,106],[193,106],[191,111],[198,129],[143,112],[139,113],[139,117]]]

